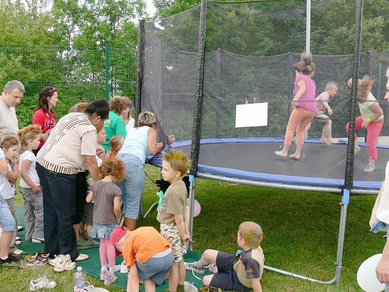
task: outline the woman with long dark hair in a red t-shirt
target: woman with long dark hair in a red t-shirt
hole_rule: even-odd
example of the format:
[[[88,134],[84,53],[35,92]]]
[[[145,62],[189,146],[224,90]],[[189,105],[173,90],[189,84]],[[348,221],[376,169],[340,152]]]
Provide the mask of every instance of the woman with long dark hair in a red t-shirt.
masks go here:
[[[43,134],[40,137],[38,149],[33,150],[34,154],[45,144],[50,135],[51,129],[55,126],[55,112],[52,109],[58,102],[58,93],[55,87],[45,86],[39,93],[38,107],[34,111],[33,125],[39,126]]]

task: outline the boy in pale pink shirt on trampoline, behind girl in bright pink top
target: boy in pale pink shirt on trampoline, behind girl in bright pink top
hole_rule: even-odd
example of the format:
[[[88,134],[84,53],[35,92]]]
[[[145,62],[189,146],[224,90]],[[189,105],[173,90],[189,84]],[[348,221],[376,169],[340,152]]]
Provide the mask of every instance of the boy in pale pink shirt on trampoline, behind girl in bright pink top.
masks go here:
[[[328,104],[330,97],[334,97],[337,92],[337,85],[335,82],[328,82],[325,86],[325,91],[320,93],[316,98],[316,112],[313,117],[313,120],[318,121],[319,123],[324,124],[323,131],[321,134],[320,142],[331,145],[338,143],[337,140],[332,138],[332,121],[330,117],[324,114],[324,111],[327,110],[329,115],[332,115],[334,112]]]

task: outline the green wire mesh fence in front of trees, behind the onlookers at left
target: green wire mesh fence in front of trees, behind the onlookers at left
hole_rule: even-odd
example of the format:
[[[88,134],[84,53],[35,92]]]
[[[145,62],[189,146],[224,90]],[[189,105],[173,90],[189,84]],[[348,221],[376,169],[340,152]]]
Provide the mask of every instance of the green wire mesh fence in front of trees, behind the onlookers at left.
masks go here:
[[[58,91],[59,102],[54,108],[57,119],[78,102],[105,98],[106,86],[109,97],[118,94],[133,98],[136,58],[135,50],[109,47],[106,52],[105,48],[0,45],[0,87],[14,79],[24,84],[26,92],[16,108],[21,128],[31,123],[38,93],[44,86],[54,86]]]

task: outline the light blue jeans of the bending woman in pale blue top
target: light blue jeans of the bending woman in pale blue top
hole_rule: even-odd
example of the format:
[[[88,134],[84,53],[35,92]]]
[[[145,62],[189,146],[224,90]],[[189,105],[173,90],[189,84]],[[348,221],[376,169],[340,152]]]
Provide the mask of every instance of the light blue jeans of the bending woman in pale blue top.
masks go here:
[[[126,218],[138,219],[144,186],[144,164],[131,154],[119,154],[126,165],[124,181],[117,183],[122,190],[123,213]]]

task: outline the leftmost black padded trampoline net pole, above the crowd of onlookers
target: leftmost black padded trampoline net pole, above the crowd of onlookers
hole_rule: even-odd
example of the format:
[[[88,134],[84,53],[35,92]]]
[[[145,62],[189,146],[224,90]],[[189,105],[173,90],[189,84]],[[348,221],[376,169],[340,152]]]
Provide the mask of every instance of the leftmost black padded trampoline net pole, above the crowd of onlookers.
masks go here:
[[[142,105],[142,84],[143,84],[143,62],[144,62],[144,20],[138,22],[138,57],[137,57],[137,91],[135,95],[135,124],[138,126],[138,117]]]

